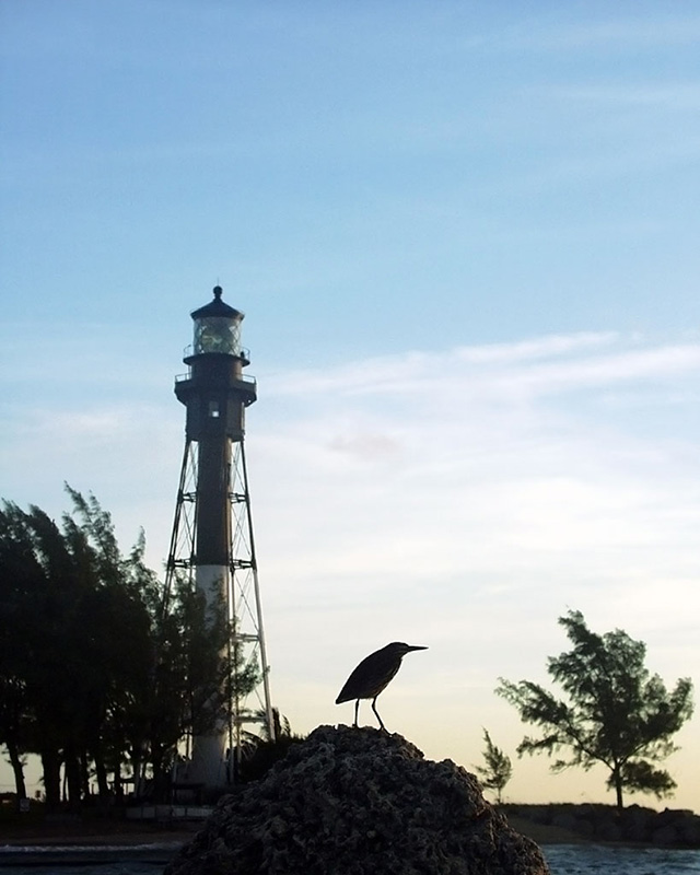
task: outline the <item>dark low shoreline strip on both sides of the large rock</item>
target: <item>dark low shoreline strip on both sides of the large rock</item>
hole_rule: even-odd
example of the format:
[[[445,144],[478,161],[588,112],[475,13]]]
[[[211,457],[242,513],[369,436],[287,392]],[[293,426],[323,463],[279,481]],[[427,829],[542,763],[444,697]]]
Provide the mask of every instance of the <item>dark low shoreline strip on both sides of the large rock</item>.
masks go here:
[[[80,814],[45,815],[43,806],[0,817],[0,848],[97,847],[124,848],[188,842],[201,821],[135,821],[124,812],[85,809]],[[612,805],[550,803],[494,806],[517,832],[537,844],[622,844],[700,849],[700,816],[684,809],[655,812],[631,805],[622,815]]]

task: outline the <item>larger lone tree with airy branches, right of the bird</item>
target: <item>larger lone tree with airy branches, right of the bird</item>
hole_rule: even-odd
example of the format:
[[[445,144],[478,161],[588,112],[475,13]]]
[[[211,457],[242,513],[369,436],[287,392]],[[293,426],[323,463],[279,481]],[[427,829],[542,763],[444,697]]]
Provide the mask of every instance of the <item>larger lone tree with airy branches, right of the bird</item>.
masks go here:
[[[669,796],[676,782],[652,763],[677,747],[672,737],[692,714],[692,684],[680,678],[667,692],[658,675],[644,665],[646,646],[616,629],[592,632],[580,611],[559,618],[573,649],[548,658],[547,670],[568,700],[555,698],[529,680],[514,684],[499,678],[497,693],[513,704],[524,723],[539,725],[540,738],[526,736],[517,752],[549,756],[568,748],[570,758],[557,759],[551,769],[570,766],[591,769],[596,762],[608,770],[608,789],[615,790],[618,809],[622,791]]]

